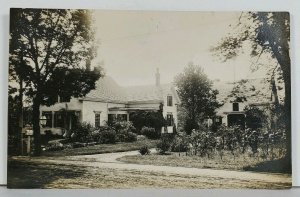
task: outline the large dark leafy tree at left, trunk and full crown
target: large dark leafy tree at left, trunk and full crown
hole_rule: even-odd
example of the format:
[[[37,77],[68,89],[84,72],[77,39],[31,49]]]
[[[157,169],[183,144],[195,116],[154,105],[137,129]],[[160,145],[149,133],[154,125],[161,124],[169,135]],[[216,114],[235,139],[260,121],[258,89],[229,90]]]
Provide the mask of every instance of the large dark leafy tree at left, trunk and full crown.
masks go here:
[[[100,68],[90,69],[96,55],[92,17],[87,10],[62,9],[11,9],[10,17],[10,75],[23,81],[32,99],[34,154],[40,155],[40,105],[85,96],[101,76]]]

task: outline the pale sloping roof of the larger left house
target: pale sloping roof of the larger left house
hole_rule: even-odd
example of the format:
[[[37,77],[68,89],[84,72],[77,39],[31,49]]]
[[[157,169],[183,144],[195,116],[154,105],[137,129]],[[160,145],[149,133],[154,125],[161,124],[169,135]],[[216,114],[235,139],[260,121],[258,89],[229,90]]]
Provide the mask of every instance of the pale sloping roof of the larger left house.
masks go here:
[[[86,95],[84,100],[118,103],[159,103],[163,102],[166,94],[175,95],[176,101],[179,102],[172,84],[122,87],[110,76],[105,76],[97,81],[96,89]]]

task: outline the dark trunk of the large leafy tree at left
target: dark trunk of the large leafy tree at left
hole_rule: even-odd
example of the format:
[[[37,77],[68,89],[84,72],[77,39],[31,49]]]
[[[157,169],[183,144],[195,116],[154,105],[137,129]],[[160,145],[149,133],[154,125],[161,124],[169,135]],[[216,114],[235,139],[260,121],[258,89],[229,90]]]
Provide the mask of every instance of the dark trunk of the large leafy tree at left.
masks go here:
[[[41,132],[40,132],[40,104],[41,96],[37,95],[33,99],[32,123],[34,137],[34,155],[41,155]]]

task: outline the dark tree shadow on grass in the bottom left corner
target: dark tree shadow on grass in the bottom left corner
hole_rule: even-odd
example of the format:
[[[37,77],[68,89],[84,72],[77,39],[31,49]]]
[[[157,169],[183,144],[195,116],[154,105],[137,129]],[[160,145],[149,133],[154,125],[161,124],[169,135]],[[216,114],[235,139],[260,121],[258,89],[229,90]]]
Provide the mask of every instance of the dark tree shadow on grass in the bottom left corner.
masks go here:
[[[8,161],[7,187],[45,188],[59,179],[73,179],[83,176],[86,170],[69,165],[36,164],[32,162]]]

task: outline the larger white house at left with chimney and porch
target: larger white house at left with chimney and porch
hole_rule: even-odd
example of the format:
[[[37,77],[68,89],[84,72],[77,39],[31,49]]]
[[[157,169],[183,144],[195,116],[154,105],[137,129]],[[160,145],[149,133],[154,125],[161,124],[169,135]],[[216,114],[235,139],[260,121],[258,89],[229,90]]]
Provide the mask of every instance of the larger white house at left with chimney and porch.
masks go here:
[[[163,116],[168,123],[168,132],[177,127],[177,105],[180,100],[172,84],[160,84],[157,70],[156,83],[146,86],[122,87],[111,77],[105,76],[96,82],[96,89],[84,98],[58,99],[50,107],[40,106],[41,116],[47,121],[41,133],[50,130],[62,135],[79,122],[94,126],[105,125],[113,120],[130,120],[130,112],[137,110],[158,111],[163,106]]]

